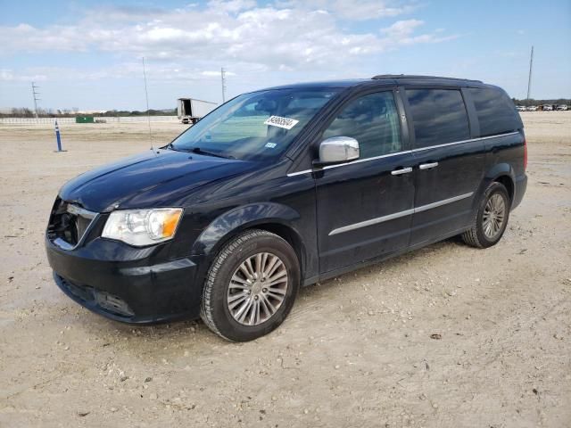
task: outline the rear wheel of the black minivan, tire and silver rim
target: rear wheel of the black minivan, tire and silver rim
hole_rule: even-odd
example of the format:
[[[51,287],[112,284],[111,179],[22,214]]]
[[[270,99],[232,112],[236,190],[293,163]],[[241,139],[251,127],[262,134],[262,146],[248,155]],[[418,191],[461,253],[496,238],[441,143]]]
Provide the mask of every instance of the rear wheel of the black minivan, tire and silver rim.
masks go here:
[[[492,202],[503,205],[503,217],[501,218],[501,225],[497,227],[497,230],[494,230],[496,226],[492,226],[492,229],[490,229],[490,226],[486,226],[484,221],[484,218],[489,216],[487,213],[491,211],[490,207],[495,205]],[[509,193],[504,185],[497,182],[489,185],[482,196],[472,226],[461,235],[464,243],[476,248],[488,248],[498,243],[506,230],[506,226],[508,226],[510,205]],[[494,218],[499,218],[498,214]]]

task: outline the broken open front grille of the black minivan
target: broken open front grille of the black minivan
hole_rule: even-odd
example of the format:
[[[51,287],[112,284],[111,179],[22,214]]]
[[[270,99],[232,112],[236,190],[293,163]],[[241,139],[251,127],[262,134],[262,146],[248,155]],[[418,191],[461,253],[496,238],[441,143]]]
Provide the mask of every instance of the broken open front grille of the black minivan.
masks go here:
[[[81,242],[96,216],[95,212],[57,198],[47,226],[47,236],[64,250],[70,250]]]

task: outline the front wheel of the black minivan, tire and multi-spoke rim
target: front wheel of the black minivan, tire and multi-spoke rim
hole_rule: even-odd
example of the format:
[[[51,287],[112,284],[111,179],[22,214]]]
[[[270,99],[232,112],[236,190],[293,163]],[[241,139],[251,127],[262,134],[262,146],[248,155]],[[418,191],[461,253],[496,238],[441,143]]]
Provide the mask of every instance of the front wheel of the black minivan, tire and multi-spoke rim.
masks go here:
[[[247,230],[227,243],[212,262],[203,287],[204,324],[232,342],[268,334],[294,306],[300,277],[299,261],[289,243],[265,230]],[[264,288],[265,280],[269,286]]]

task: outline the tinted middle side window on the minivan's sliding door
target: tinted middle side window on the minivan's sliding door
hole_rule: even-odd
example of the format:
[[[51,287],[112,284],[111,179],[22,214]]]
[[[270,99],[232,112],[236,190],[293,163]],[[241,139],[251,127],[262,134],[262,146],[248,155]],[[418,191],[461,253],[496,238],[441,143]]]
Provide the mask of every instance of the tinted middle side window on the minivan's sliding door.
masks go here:
[[[468,140],[470,127],[457,89],[407,89],[417,148]]]

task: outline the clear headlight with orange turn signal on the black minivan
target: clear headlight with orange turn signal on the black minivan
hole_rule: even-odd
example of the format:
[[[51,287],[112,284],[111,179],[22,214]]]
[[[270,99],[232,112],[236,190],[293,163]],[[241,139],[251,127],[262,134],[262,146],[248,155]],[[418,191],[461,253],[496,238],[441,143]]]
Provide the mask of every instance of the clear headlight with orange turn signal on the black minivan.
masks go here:
[[[112,211],[102,236],[137,247],[161,243],[175,235],[181,215],[181,208]]]

